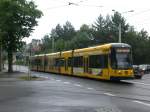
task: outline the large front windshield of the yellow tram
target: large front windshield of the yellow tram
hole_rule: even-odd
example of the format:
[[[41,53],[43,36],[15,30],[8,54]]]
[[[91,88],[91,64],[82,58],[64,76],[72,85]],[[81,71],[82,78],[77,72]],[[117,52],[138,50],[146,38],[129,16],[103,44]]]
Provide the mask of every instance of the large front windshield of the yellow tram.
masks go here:
[[[113,69],[132,68],[132,58],[130,49],[129,48],[112,49],[111,66]]]

